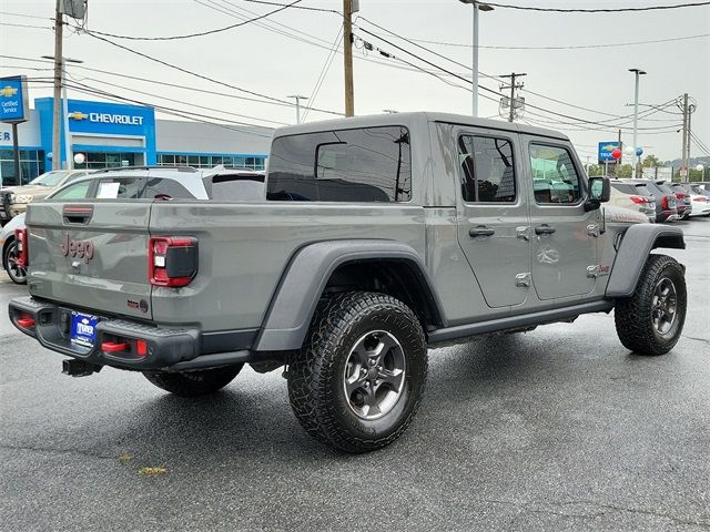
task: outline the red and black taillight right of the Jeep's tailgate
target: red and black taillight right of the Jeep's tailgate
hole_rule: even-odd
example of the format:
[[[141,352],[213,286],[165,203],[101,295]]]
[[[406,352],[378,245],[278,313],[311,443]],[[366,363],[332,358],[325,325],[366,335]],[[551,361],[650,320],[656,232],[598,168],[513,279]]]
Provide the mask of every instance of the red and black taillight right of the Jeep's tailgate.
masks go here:
[[[155,236],[148,242],[151,285],[187,286],[197,274],[197,239],[191,236]]]

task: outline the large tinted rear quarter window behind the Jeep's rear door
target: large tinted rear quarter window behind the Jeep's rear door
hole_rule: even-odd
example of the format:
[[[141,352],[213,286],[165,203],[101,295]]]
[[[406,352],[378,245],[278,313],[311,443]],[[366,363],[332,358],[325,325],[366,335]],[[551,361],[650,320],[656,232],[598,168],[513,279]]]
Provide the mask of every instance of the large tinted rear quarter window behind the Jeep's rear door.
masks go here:
[[[276,139],[267,198],[301,202],[408,202],[409,132],[386,126]]]

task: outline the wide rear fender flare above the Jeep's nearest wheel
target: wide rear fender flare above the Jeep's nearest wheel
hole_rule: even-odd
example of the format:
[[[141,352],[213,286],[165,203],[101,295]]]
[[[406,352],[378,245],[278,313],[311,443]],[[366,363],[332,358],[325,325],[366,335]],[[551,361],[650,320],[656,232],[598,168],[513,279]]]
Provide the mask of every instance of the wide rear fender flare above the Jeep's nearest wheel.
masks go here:
[[[379,241],[328,241],[310,244],[293,256],[272,297],[254,349],[300,349],[315,308],[333,273],[353,262],[403,260],[416,268],[428,299],[443,317],[442,305],[419,255],[406,244]]]

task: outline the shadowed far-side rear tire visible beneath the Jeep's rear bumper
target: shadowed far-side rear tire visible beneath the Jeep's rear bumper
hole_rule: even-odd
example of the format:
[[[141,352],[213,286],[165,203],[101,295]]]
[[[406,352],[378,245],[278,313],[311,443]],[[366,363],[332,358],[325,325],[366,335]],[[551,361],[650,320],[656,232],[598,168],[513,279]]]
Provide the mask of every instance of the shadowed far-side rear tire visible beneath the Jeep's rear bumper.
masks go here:
[[[234,380],[243,364],[222,368],[182,371],[176,374],[144,371],[143,376],[159,388],[180,397],[197,397],[214,393]]]

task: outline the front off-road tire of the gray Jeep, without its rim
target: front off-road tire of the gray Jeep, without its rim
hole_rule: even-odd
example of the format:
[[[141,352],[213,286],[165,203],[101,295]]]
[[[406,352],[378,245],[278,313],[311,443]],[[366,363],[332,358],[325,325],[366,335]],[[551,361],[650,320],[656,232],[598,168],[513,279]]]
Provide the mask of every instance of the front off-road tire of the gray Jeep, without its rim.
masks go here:
[[[670,279],[677,293],[676,319],[667,334],[659,334],[652,323],[653,294],[662,279]],[[668,255],[649,255],[636,291],[617,300],[613,314],[617,335],[627,349],[639,355],[665,355],[678,340],[686,321],[686,276],[678,262]]]

